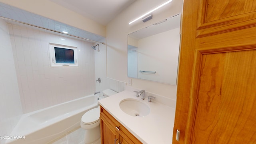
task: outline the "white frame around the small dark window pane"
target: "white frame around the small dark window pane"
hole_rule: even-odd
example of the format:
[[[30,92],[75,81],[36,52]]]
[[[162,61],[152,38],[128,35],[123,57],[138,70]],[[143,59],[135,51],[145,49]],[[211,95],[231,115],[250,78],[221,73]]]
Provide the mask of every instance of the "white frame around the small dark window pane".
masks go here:
[[[74,64],[56,63],[55,50],[54,50],[55,47],[73,50],[74,51]],[[66,45],[62,45],[62,44],[49,43],[49,53],[50,53],[50,66],[51,67],[78,66],[78,53],[77,53],[77,47],[75,47],[75,46],[66,46]]]

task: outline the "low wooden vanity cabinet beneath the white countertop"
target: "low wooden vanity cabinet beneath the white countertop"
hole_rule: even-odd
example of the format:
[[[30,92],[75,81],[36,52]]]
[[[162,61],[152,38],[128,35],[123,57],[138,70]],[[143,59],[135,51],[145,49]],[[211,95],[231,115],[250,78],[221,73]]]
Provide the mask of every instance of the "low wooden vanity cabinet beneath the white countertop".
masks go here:
[[[100,106],[101,144],[142,144],[120,122]]]

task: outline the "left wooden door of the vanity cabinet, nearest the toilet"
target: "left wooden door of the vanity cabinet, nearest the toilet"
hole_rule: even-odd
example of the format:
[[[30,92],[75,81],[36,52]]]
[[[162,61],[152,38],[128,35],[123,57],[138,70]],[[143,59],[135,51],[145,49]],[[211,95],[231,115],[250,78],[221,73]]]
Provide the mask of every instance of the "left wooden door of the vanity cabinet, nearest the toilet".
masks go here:
[[[117,144],[119,134],[115,127],[104,116],[100,116],[101,144]]]

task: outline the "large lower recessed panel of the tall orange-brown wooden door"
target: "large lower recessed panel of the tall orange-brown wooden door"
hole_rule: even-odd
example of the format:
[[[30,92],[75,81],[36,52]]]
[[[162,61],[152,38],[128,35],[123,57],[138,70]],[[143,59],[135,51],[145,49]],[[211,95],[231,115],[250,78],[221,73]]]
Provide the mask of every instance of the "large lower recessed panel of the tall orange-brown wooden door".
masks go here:
[[[256,143],[256,50],[203,54],[192,143]]]

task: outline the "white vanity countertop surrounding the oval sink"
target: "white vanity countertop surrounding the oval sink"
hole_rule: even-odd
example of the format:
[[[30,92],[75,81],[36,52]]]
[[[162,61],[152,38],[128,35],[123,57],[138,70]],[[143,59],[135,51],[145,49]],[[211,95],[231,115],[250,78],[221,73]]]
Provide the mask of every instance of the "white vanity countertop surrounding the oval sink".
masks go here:
[[[134,98],[150,107],[150,114],[144,117],[130,116],[124,113],[119,103],[126,98]],[[137,98],[135,92],[124,90],[98,101],[118,122],[127,128],[143,144],[172,144],[175,109],[164,104],[148,102]]]

